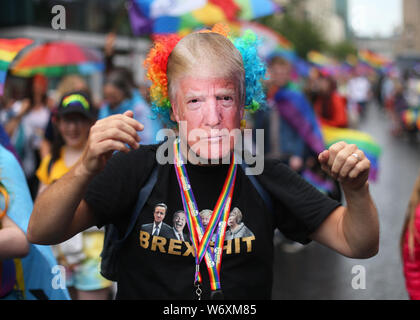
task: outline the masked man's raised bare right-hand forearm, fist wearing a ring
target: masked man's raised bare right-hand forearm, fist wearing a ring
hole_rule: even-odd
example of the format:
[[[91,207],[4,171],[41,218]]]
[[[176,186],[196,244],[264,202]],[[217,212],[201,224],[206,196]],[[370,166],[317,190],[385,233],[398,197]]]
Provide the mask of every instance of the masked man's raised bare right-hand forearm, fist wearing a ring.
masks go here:
[[[379,221],[367,182],[369,160],[355,145],[339,142],[322,152],[319,161],[324,171],[341,182],[347,208],[334,210],[311,238],[347,257],[374,256],[379,249]]]

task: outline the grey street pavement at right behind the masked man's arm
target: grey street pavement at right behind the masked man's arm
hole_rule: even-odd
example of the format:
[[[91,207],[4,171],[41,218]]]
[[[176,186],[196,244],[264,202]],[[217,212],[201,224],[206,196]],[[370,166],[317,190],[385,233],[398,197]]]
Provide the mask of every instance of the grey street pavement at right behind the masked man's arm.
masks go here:
[[[359,130],[382,148],[378,181],[370,184],[379,212],[380,248],[370,259],[350,259],[311,242],[285,252],[275,246],[273,299],[408,299],[399,250],[408,200],[420,170],[420,143],[390,134],[390,120],[376,104],[368,106]]]

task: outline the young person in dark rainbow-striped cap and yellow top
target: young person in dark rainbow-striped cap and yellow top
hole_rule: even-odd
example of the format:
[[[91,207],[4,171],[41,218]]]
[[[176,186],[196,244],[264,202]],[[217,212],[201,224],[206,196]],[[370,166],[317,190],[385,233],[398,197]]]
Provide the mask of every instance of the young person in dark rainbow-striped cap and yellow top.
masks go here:
[[[97,111],[83,91],[65,94],[54,121],[51,153],[36,171],[40,180],[38,195],[66,174],[82,155]],[[111,282],[98,271],[103,231],[91,228],[53,246],[60,264],[66,267],[67,286],[73,299],[107,299]]]

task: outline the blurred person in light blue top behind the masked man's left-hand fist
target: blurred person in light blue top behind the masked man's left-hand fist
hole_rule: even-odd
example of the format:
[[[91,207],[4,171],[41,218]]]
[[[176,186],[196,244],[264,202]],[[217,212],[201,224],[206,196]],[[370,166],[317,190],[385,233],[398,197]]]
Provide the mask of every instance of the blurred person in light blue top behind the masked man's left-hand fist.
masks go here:
[[[104,98],[105,103],[99,110],[98,119],[133,111],[134,119],[147,128],[139,133],[141,143],[156,143],[156,134],[161,124],[158,119],[153,118],[152,111],[136,89],[129,70],[116,67],[109,72],[104,85]]]

